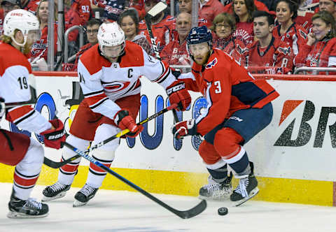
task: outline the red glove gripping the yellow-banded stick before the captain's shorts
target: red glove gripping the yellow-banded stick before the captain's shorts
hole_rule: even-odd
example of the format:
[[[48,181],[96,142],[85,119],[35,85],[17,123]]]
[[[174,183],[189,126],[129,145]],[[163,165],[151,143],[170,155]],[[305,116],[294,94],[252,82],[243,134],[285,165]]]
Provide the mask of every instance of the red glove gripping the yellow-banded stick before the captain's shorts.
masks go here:
[[[137,125],[128,113],[127,110],[119,110],[114,116],[114,122],[118,125],[118,127],[122,130],[129,129],[130,132],[127,133],[125,136],[127,137],[137,137],[139,133],[144,129],[144,126]]]

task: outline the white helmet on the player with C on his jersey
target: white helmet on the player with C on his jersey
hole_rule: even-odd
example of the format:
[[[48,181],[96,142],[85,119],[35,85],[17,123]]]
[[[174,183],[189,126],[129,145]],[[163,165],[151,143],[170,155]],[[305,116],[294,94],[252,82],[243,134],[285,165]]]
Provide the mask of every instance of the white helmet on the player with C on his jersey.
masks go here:
[[[103,23],[100,25],[98,34],[98,43],[99,48],[102,51],[102,55],[106,57],[111,56],[119,56],[122,55],[125,49],[125,34],[123,29],[121,29],[116,22],[111,23]],[[120,45],[120,46],[118,46]],[[109,52],[106,50],[109,49],[109,47],[117,47],[120,48],[119,54],[108,54]]]

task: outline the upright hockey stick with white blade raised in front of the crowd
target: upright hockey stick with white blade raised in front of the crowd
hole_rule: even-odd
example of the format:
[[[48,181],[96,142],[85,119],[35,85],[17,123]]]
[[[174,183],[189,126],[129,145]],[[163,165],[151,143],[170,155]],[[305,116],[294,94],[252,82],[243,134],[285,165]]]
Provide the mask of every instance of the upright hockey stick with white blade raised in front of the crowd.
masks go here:
[[[151,43],[152,43],[152,46],[153,46],[153,50],[155,52],[155,57],[158,60],[161,60],[161,57],[160,57],[158,45],[156,45],[156,41],[155,41],[155,38],[153,36],[151,20],[152,20],[152,17],[155,17],[155,15],[158,15],[159,13],[161,13],[166,8],[167,8],[167,5],[165,3],[163,3],[162,1],[160,1],[158,4],[153,6],[153,8],[151,8],[151,10],[149,10],[148,13],[145,16],[147,31],[148,31],[149,37],[151,38]],[[175,109],[173,109],[173,115],[174,115],[175,123],[178,123],[179,122],[179,117],[177,117],[177,113],[176,113]]]

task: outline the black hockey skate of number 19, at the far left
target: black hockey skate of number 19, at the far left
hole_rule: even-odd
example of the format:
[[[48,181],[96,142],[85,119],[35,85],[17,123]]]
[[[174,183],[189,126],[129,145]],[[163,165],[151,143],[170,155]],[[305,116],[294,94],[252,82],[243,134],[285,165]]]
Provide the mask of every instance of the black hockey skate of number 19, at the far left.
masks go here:
[[[27,201],[21,200],[12,195],[8,203],[9,218],[37,218],[47,217],[49,208],[47,204],[36,201],[34,198],[29,198]]]

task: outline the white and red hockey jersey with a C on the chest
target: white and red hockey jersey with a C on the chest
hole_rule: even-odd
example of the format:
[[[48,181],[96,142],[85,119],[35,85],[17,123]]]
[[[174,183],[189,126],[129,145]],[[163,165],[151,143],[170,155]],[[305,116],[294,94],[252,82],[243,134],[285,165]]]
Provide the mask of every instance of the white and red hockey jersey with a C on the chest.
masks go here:
[[[140,93],[142,75],[165,89],[176,80],[167,64],[130,41],[126,41],[118,62],[112,64],[105,59],[98,44],[84,52],[78,62],[80,87],[88,105],[94,113],[111,119],[120,110],[114,101]]]

